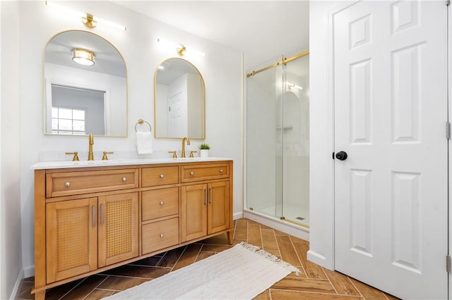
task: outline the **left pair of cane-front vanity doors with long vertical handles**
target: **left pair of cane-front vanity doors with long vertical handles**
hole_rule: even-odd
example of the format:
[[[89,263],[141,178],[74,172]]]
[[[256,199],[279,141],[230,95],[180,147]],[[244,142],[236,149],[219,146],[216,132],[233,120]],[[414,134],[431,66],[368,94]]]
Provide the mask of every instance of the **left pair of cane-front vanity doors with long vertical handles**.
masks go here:
[[[138,256],[138,192],[46,204],[47,284]]]

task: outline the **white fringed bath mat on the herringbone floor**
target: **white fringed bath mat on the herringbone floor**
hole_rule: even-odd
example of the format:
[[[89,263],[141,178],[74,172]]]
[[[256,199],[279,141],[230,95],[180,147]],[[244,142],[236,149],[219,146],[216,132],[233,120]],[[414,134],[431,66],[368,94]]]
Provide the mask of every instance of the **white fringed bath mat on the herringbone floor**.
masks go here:
[[[242,242],[104,299],[252,299],[299,270]]]

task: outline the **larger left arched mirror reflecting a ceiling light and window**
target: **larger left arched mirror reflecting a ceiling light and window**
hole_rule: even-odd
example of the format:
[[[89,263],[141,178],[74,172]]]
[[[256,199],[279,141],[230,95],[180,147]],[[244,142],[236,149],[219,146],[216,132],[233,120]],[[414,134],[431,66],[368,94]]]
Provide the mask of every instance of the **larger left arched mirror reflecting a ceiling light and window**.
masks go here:
[[[127,70],[91,32],[52,37],[44,51],[44,134],[127,136]]]

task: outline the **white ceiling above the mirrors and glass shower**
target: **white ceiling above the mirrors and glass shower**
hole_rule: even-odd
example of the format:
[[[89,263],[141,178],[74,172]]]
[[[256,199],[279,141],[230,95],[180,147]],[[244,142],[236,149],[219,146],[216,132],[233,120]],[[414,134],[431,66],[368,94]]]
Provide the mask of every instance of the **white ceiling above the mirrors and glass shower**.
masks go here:
[[[113,2],[244,52],[250,66],[309,45],[309,1]]]

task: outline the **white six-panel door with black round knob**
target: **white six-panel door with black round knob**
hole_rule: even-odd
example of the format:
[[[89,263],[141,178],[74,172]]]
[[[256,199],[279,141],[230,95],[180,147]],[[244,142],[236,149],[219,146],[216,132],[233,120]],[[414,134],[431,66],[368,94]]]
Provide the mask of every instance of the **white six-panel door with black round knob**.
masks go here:
[[[446,1],[333,13],[335,270],[402,299],[446,299]]]

